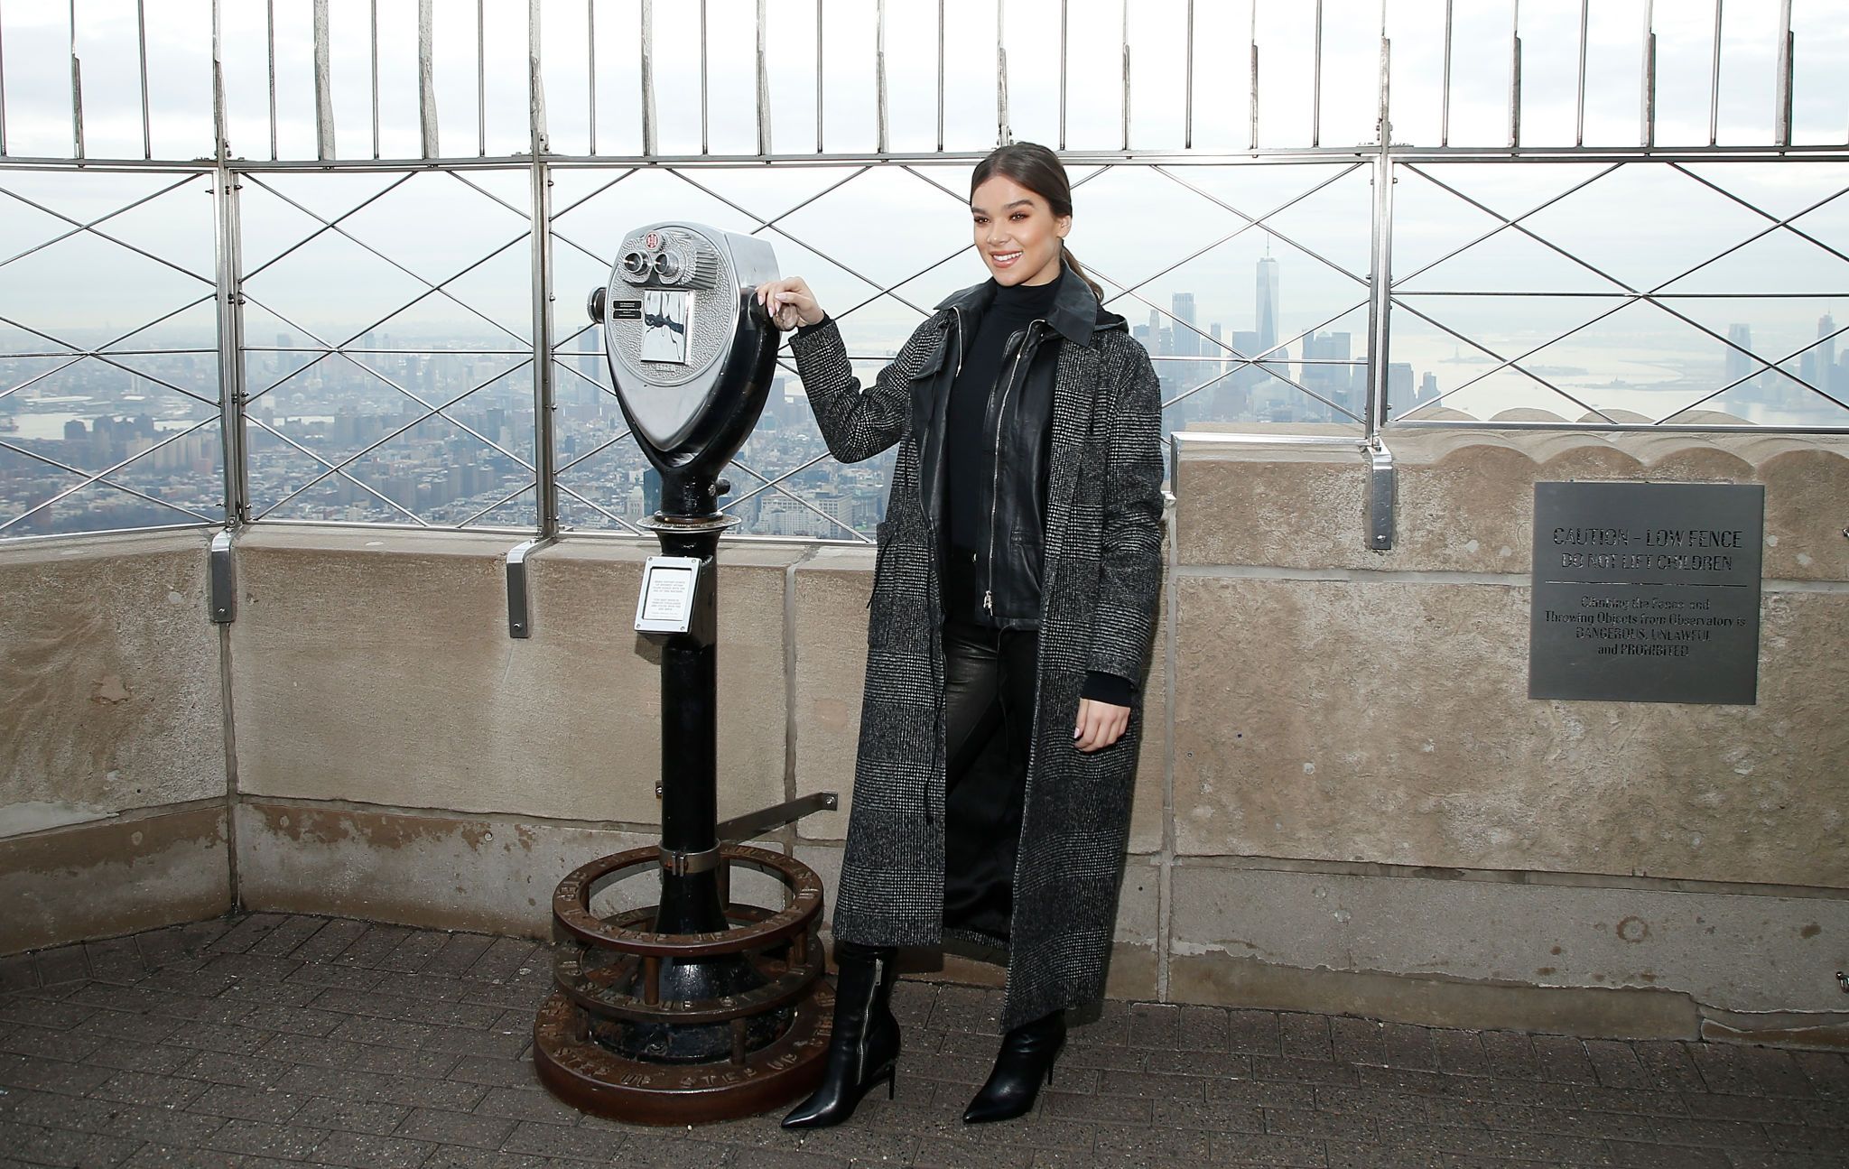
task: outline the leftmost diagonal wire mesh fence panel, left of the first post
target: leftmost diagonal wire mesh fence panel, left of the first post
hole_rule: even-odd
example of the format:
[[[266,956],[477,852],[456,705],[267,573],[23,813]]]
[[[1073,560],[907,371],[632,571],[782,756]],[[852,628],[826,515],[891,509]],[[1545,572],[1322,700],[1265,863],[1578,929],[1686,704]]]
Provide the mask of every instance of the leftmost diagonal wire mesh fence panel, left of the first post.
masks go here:
[[[209,253],[159,231],[209,224],[202,178],[0,176],[22,244],[0,259],[0,538],[220,518],[216,338],[198,318],[216,279]],[[68,213],[67,187],[83,187],[67,207],[105,207]],[[133,324],[98,320],[72,281]]]

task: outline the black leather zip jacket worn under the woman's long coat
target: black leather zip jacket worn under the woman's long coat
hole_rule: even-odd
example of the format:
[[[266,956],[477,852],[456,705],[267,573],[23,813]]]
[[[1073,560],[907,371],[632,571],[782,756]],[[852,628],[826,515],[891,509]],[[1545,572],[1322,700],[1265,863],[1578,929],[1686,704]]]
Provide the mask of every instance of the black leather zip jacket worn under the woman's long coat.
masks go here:
[[[924,514],[943,516],[945,414],[950,401],[950,383],[961,368],[963,344],[974,337],[982,313],[989,307],[995,287],[987,281],[963,289],[937,305],[949,311],[943,363],[936,372],[928,396],[932,418],[919,427],[919,483],[924,490]],[[974,607],[952,612],[980,625],[997,629],[1037,629],[1041,616],[1041,562],[1045,559],[1047,516],[1047,448],[1052,429],[1052,387],[1059,348],[1065,340],[1089,344],[1093,333],[1124,329],[1124,318],[1109,313],[1091,294],[1074,272],[1067,272],[1058,300],[1045,318],[1008,338],[1002,351],[1002,383],[989,394],[982,433],[995,442],[995,462],[978,492],[980,512],[987,518],[978,531],[976,549],[969,562],[950,564],[950,549],[943,546],[939,523],[939,564],[947,581],[973,584]],[[956,468],[958,474],[967,474]],[[961,490],[965,485],[958,485]],[[967,573],[967,575],[965,575]],[[950,590],[961,594],[961,588]],[[954,601],[956,596],[947,596]]]

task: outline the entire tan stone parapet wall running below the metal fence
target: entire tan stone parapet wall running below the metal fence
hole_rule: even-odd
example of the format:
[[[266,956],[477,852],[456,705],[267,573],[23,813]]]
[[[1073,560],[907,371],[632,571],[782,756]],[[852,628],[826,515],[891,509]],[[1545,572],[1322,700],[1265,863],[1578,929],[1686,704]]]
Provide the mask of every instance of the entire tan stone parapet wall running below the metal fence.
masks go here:
[[[1849,448],[1390,442],[1389,553],[1365,546],[1355,451],[1183,442],[1111,993],[1849,1041]],[[1527,697],[1533,485],[1568,477],[1766,485],[1757,705]],[[251,908],[545,936],[564,871],[655,840],[656,657],[632,633],[655,549],[542,549],[516,640],[514,542],[259,525],[222,647],[198,536],[6,549],[31,599],[6,618],[0,683],[43,712],[9,723],[6,803],[20,819],[55,792],[124,818],[218,801],[214,845],[146,849],[194,866],[172,873],[235,871]],[[767,838],[830,892],[871,581],[871,548],[721,548],[719,814],[839,792],[839,812]],[[92,701],[111,673],[133,701]],[[128,718],[153,694],[179,697]],[[89,762],[109,751],[131,766]],[[120,932],[70,882],[105,864],[102,836],[70,832],[102,829],[22,823],[0,884],[50,908],[0,947]],[[924,969],[995,978],[956,954]]]

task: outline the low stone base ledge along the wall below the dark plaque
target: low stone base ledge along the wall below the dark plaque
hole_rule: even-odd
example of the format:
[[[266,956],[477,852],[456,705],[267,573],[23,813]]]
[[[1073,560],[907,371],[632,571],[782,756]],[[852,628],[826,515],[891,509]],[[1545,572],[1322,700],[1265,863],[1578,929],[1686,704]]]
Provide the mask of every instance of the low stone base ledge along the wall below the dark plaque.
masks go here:
[[[1228,975],[1235,980],[1320,969],[1501,988],[1673,991],[1690,1012],[1707,1004],[1738,1014],[1840,1014],[1832,971],[1849,967],[1849,893],[1751,897],[1337,877],[1209,862],[1178,864],[1172,888],[1170,988],[1176,969],[1244,971]]]

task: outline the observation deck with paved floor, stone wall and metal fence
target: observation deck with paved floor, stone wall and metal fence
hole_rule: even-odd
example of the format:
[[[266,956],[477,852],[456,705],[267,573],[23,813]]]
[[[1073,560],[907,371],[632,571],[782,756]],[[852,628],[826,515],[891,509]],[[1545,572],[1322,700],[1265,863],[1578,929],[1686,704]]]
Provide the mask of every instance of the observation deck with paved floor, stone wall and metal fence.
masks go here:
[[[272,7],[0,9],[0,1158],[1843,1163],[1840,4]],[[762,235],[871,377],[1006,139],[1163,379],[1111,999],[1002,1147],[956,953],[865,1125],[579,1123],[508,1019],[660,725],[581,296]],[[839,790],[832,895],[886,466],[780,374],[719,816]],[[1529,697],[1562,481],[1764,488],[1755,703]]]

